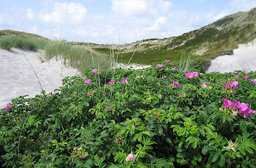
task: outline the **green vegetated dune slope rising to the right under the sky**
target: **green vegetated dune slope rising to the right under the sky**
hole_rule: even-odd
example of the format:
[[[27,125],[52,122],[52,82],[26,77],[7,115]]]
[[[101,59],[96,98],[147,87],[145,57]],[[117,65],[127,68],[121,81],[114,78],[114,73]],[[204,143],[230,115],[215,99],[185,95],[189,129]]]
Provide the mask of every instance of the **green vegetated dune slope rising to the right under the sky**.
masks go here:
[[[256,37],[256,8],[249,12],[237,12],[210,25],[184,33],[177,37],[140,40],[124,45],[94,45],[102,53],[109,48],[119,50],[119,61],[127,63],[134,51],[132,63],[151,64],[163,58],[179,61],[181,56],[192,55],[202,60],[232,51],[240,43],[248,43]],[[122,60],[121,60],[122,58]]]

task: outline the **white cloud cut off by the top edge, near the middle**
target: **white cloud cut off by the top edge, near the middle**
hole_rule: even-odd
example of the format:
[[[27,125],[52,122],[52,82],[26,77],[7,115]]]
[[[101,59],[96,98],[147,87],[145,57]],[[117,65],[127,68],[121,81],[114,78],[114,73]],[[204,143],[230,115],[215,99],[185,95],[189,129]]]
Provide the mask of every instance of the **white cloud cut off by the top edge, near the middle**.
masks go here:
[[[124,16],[168,12],[170,1],[163,0],[111,0],[112,11]]]

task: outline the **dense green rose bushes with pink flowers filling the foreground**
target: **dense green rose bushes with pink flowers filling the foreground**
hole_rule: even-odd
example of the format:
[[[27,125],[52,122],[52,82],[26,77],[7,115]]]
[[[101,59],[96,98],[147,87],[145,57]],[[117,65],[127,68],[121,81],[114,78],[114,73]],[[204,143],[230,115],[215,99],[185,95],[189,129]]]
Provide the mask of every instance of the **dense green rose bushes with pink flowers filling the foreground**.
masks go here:
[[[255,167],[255,114],[244,118],[242,108],[223,104],[237,100],[255,110],[255,72],[236,71],[236,77],[159,65],[85,68],[85,76],[65,78],[55,94],[12,100],[1,110],[0,163]]]

